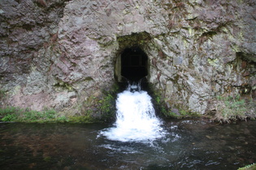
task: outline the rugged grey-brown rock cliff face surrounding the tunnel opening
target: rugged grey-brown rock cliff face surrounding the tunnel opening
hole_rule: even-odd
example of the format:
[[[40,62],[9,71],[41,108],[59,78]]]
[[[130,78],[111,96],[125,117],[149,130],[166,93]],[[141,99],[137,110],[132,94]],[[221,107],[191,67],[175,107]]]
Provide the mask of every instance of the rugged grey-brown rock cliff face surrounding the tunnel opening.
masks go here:
[[[255,16],[254,0],[3,0],[1,104],[96,115],[131,47],[170,109],[203,114],[215,96],[255,97]]]

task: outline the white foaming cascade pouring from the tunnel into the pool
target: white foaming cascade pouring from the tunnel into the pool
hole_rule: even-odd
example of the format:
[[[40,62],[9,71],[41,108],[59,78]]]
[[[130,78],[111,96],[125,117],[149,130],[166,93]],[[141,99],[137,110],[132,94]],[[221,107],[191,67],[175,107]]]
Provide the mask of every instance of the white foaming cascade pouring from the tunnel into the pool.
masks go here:
[[[162,138],[165,133],[160,126],[162,122],[155,116],[151,97],[146,91],[132,91],[137,88],[132,86],[118,94],[115,126],[100,134],[122,142],[151,142]]]

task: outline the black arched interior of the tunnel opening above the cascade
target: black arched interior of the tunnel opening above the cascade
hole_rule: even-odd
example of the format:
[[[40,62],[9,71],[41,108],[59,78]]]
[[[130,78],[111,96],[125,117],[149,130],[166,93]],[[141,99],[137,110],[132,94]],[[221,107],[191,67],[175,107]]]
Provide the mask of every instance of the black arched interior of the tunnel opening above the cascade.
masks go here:
[[[121,76],[137,82],[148,75],[148,57],[139,47],[124,49],[121,54]]]

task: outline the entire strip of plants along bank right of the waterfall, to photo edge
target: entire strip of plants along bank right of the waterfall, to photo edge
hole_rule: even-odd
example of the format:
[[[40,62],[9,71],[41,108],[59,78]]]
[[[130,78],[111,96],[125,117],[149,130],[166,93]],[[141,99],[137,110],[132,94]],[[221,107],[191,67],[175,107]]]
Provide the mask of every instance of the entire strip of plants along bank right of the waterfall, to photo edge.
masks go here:
[[[190,118],[190,117],[206,117],[219,123],[230,123],[232,121],[246,121],[247,119],[256,119],[256,102],[255,100],[242,99],[241,96],[217,96],[211,101],[212,108],[206,115],[191,112],[190,110],[176,106],[176,108],[168,108],[167,103],[171,101],[164,99],[161,91],[156,91],[150,84],[150,96],[157,113],[167,118]],[[170,104],[171,105],[171,104]],[[178,108],[178,109],[177,109]]]

